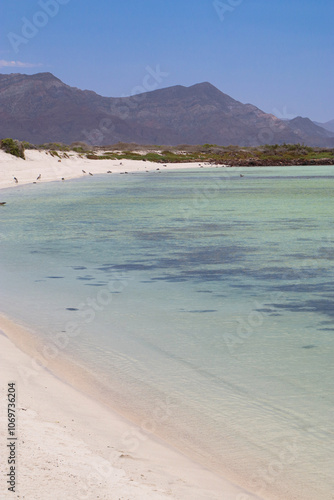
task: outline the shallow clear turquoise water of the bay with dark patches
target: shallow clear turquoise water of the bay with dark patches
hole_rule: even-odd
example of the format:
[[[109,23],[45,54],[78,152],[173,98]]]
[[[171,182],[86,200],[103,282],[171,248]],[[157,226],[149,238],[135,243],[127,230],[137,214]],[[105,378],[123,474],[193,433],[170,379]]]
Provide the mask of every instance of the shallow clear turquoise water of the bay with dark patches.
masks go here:
[[[277,167],[3,191],[2,310],[143,432],[264,498],[333,498],[333,190]]]

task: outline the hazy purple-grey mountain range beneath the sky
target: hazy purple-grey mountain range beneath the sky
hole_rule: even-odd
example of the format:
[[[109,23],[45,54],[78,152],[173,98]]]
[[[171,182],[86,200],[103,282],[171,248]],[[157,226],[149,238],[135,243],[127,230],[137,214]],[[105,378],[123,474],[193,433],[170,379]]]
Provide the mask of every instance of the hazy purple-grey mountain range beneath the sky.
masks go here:
[[[34,144],[334,146],[328,131],[312,128],[308,119],[295,120],[242,104],[210,83],[113,98],[70,87],[51,73],[0,75],[0,138]]]

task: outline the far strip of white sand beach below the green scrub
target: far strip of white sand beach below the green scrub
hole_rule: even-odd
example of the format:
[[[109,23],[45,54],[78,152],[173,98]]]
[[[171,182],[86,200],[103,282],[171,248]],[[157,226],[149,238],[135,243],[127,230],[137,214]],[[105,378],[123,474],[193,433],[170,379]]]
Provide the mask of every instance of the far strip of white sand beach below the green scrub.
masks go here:
[[[51,156],[49,152],[26,150],[26,159],[22,160],[0,150],[0,189],[9,187],[19,187],[33,182],[52,182],[70,180],[84,176],[138,172],[156,172],[162,170],[194,169],[211,167],[204,163],[169,163],[163,166],[161,163],[145,162],[139,160],[88,160],[74,151],[66,153],[70,155],[66,158],[62,152],[57,156]],[[83,170],[86,173],[83,173]],[[37,180],[37,177],[41,178]],[[15,182],[14,177],[18,180]],[[0,200],[1,201],[1,200]]]

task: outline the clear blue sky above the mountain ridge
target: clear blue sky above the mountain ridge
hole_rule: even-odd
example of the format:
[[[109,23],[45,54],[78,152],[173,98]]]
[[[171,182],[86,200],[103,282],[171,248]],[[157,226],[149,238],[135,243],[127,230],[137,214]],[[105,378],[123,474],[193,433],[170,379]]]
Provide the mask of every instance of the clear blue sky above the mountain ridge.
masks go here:
[[[280,118],[334,119],[333,0],[1,0],[0,19],[1,73],[113,97],[209,81]]]

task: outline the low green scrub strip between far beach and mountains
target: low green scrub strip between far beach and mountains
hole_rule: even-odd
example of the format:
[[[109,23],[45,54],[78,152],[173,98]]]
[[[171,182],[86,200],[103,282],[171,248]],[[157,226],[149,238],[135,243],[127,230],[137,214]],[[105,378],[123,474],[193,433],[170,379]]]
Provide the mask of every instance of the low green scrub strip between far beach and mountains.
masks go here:
[[[303,144],[275,144],[258,147],[218,146],[203,144],[191,146],[157,146],[117,143],[108,146],[89,146],[84,142],[71,145],[46,143],[40,145],[3,139],[0,147],[6,153],[25,158],[25,149],[47,151],[54,157],[69,158],[75,151],[89,160],[141,160],[156,163],[210,163],[230,166],[288,166],[334,165],[334,149],[315,148]],[[61,156],[60,156],[61,153]]]

